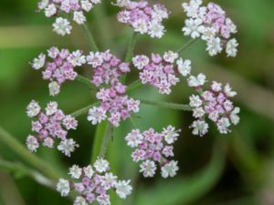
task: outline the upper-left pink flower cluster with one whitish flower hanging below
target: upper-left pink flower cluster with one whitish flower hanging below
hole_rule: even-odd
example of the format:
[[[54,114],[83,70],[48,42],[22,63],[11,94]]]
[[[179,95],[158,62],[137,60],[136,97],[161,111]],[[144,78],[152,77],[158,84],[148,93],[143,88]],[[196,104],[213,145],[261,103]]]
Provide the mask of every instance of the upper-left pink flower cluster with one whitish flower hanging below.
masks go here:
[[[82,51],[79,50],[69,53],[68,49],[59,50],[57,47],[51,47],[47,51],[47,56],[40,54],[30,64],[36,70],[44,68],[43,78],[50,81],[49,94],[56,96],[60,92],[61,84],[66,80],[74,80],[78,76],[74,67],[85,64],[86,56],[83,56]]]

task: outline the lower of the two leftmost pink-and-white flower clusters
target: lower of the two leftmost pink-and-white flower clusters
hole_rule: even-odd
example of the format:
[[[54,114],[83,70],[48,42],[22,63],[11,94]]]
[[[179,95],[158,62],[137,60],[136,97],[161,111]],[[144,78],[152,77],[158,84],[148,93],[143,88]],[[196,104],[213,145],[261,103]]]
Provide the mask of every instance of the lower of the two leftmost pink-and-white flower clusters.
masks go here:
[[[58,109],[57,102],[47,103],[47,108],[43,112],[38,103],[32,100],[26,107],[26,114],[30,118],[36,118],[32,121],[32,131],[36,134],[26,138],[26,147],[29,151],[37,151],[40,143],[48,148],[53,148],[56,138],[61,140],[58,150],[68,157],[79,147],[72,138],[67,138],[68,130],[76,129],[78,121]]]

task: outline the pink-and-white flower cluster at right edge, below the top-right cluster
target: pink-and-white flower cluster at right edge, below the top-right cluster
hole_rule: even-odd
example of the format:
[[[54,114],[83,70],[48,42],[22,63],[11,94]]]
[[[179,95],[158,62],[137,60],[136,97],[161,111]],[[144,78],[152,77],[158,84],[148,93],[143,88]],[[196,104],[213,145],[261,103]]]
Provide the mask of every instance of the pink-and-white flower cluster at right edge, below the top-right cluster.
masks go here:
[[[212,120],[221,134],[227,134],[231,130],[229,127],[237,125],[239,117],[237,116],[240,108],[235,108],[230,101],[230,97],[235,97],[237,93],[232,91],[229,84],[223,86],[221,83],[213,81],[210,89],[204,90],[205,75],[200,74],[198,77],[191,76],[188,79],[188,85],[195,87],[200,95],[192,95],[190,107],[193,108],[193,116],[196,120],[190,126],[193,128],[193,134],[200,137],[208,132],[208,124],[205,117]]]

